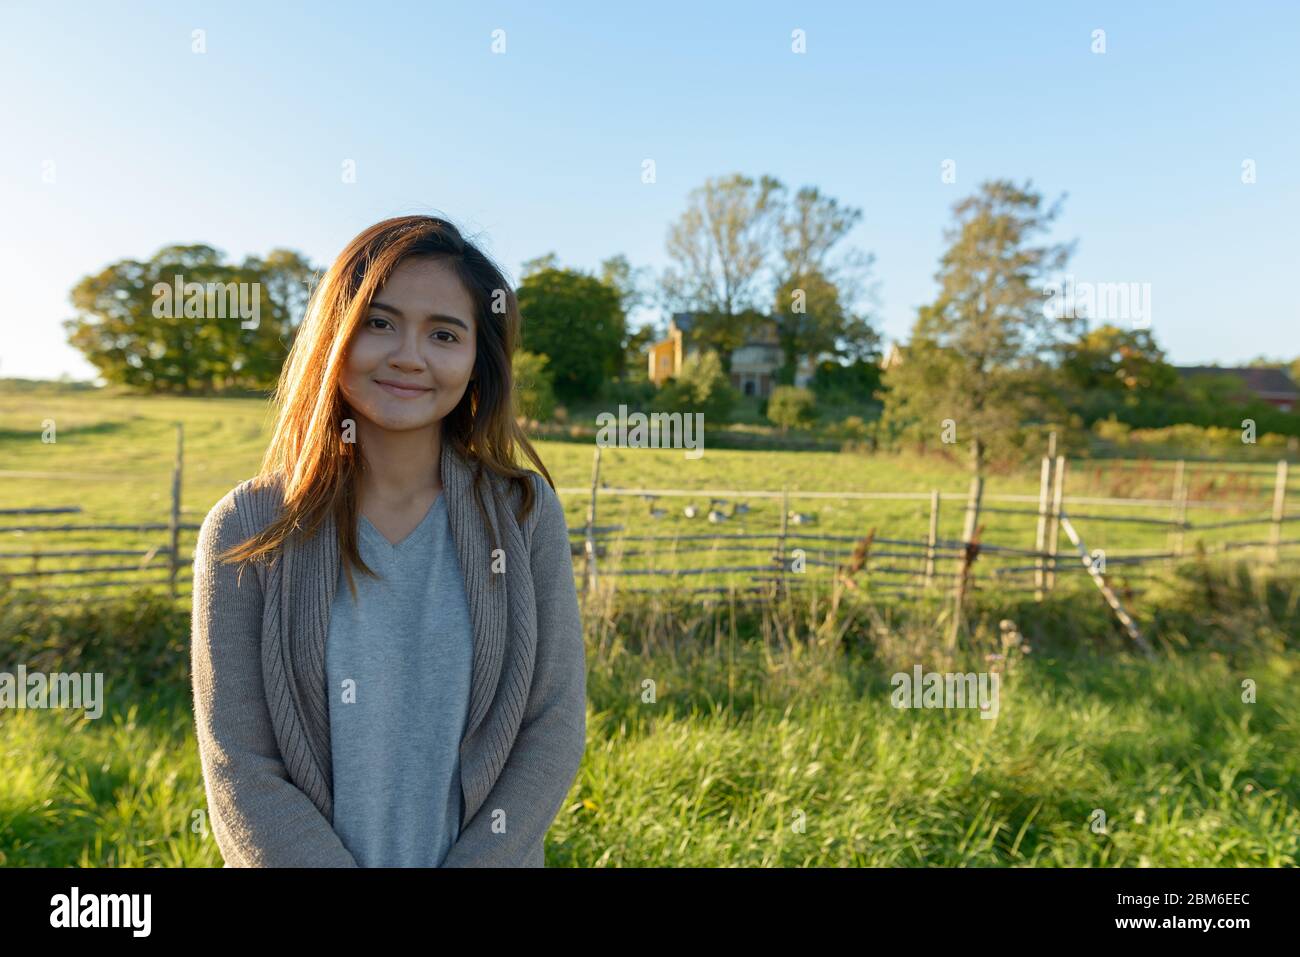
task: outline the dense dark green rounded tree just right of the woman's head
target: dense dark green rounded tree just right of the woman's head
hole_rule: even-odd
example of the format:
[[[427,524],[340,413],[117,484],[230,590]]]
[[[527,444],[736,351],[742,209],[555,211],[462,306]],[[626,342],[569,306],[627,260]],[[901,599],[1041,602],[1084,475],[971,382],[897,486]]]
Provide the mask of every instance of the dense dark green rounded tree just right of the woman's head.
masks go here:
[[[519,286],[524,347],[545,355],[563,402],[593,398],[623,367],[619,293],[575,269],[541,269]]]

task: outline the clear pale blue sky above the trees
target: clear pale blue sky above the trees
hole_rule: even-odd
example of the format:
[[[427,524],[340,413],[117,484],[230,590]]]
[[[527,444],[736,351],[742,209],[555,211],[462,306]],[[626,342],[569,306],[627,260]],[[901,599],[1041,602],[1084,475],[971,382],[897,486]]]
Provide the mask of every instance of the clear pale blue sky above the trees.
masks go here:
[[[867,7],[0,4],[0,376],[91,374],[70,287],[164,244],[326,265],[439,212],[516,278],[547,251],[658,272],[686,194],[731,172],[863,209],[889,338],[952,203],[1009,177],[1069,192],[1076,280],[1152,283],[1175,361],[1300,355],[1300,5]]]

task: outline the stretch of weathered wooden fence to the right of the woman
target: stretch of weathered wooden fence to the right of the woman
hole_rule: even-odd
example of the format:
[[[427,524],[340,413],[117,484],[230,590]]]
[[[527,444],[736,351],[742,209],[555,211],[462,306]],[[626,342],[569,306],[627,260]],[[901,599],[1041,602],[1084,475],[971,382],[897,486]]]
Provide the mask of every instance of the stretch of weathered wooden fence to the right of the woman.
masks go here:
[[[1277,463],[1274,476],[1273,503],[1268,514],[1244,519],[1228,519],[1218,521],[1191,521],[1187,518],[1190,508],[1216,510],[1240,508],[1243,503],[1223,502],[1192,502],[1187,495],[1186,472],[1182,463],[1175,471],[1174,493],[1169,499],[1122,499],[1098,497],[1067,497],[1065,494],[1067,459],[1063,455],[1044,456],[1040,469],[1040,488],[1037,495],[1001,494],[985,495],[983,478],[972,478],[966,495],[941,493],[937,489],[930,492],[798,492],[802,499],[835,499],[835,501],[928,501],[930,523],[928,536],[924,540],[881,537],[872,527],[864,534],[818,534],[806,531],[792,531],[790,519],[797,514],[790,512],[790,490],[780,492],[753,490],[753,489],[632,489],[608,488],[601,485],[601,450],[597,447],[592,469],[592,485],[586,488],[560,488],[562,494],[582,494],[588,497],[586,523],[584,527],[572,528],[571,536],[580,537],[580,542],[573,542],[575,557],[584,559],[581,571],[581,588],[588,593],[599,586],[602,576],[614,580],[625,577],[658,577],[670,579],[673,584],[689,576],[702,575],[745,575],[750,584],[737,586],[734,584],[708,585],[690,588],[692,593],[742,593],[742,594],[770,594],[775,584],[789,590],[809,583],[807,568],[827,568],[832,580],[849,588],[859,588],[858,576],[866,576],[870,581],[872,594],[916,597],[923,594],[944,593],[944,584],[952,586],[953,615],[950,618],[950,641],[956,642],[958,629],[963,625],[963,605],[968,593],[994,586],[998,592],[1032,592],[1036,601],[1044,601],[1048,593],[1054,590],[1057,576],[1066,572],[1086,573],[1096,585],[1101,597],[1114,611],[1115,616],[1124,627],[1135,645],[1145,653],[1150,651],[1149,642],[1141,635],[1136,622],[1123,606],[1122,596],[1108,580],[1108,568],[1119,567],[1122,570],[1141,568],[1152,564],[1167,564],[1179,560],[1186,554],[1186,532],[1210,531],[1223,528],[1247,528],[1251,525],[1264,525],[1268,529],[1266,538],[1217,542],[1200,547],[1204,551],[1231,551],[1239,549],[1264,549],[1270,562],[1280,560],[1283,550],[1300,545],[1300,540],[1284,540],[1283,525],[1300,520],[1300,514],[1286,514],[1286,493],[1288,468],[1286,460]],[[640,495],[654,506],[659,498],[707,498],[722,499],[764,499],[780,498],[780,525],[772,532],[746,532],[738,534],[711,533],[711,534],[620,534],[621,525],[598,525],[598,503],[602,495]],[[965,516],[961,538],[944,540],[939,537],[940,508],[945,499],[963,499]],[[1035,505],[1035,508],[1000,507],[991,502],[1010,505]],[[1136,515],[1104,515],[1096,512],[1075,511],[1075,507],[1165,507],[1170,510],[1170,518],[1136,516]],[[1017,547],[1013,545],[989,544],[982,540],[983,525],[980,516],[985,514],[1023,515],[1036,520],[1036,537],[1032,549]],[[1212,516],[1213,518],[1213,516]],[[1138,523],[1153,527],[1167,528],[1171,532],[1171,546],[1165,550],[1134,550],[1127,554],[1098,554],[1089,551],[1083,541],[1076,523]],[[1074,550],[1078,553],[1078,564],[1063,560],[1060,549],[1060,533],[1070,538]],[[718,551],[768,554],[768,560],[759,564],[724,564],[710,566],[697,564],[694,567],[672,568],[623,568],[610,567],[603,570],[598,564],[602,555],[612,555],[611,545],[618,542],[672,542],[672,554],[680,555],[692,551]],[[688,545],[682,546],[682,542]],[[853,542],[855,547],[844,547]],[[835,547],[836,545],[840,547]],[[659,553],[651,550],[623,550],[621,558]],[[988,585],[979,585],[975,581],[974,571],[976,559],[983,559],[983,566],[988,568],[985,581]],[[1032,577],[1031,577],[1032,576]],[[816,576],[814,576],[816,577]],[[823,579],[827,576],[822,576]],[[1131,579],[1132,573],[1126,573]],[[1148,576],[1149,577],[1149,576]],[[620,590],[629,592],[659,592],[659,586],[624,586]],[[1128,599],[1140,593],[1127,583],[1122,589],[1123,598]],[[744,598],[742,598],[744,599]]]

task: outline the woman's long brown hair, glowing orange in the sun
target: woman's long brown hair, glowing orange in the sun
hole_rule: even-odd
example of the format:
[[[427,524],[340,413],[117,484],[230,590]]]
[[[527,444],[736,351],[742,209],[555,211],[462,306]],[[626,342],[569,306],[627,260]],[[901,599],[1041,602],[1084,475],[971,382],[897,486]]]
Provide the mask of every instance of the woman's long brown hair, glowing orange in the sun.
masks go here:
[[[489,536],[495,534],[482,498],[482,469],[515,481],[521,493],[523,521],[534,505],[528,471],[516,463],[521,450],[546,477],[542,464],[516,421],[511,356],[519,346],[521,317],[515,290],[500,269],[446,220],[400,216],[377,222],[347,244],[312,293],[302,325],[280,373],[273,395],[276,430],[255,485],[281,482],[283,514],[256,536],[228,549],[225,562],[272,557],[294,532],[316,532],[333,512],[339,555],[354,597],[352,567],[374,575],[356,544],[356,480],[361,462],[354,442],[343,441],[343,420],[354,417],[339,390],[339,372],[348,343],[364,321],[370,300],[399,263],[434,257],[460,278],[474,303],[477,355],[474,376],[460,403],[442,420],[442,441],[474,463],[474,493]],[[495,579],[495,576],[491,576]]]

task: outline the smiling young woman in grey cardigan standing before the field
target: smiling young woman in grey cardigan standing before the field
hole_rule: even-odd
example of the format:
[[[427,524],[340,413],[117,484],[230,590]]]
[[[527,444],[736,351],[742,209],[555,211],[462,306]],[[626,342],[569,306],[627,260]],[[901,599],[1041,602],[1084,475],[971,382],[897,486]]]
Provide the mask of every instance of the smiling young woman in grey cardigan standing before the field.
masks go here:
[[[261,471],[195,546],[228,867],[545,866],[586,671],[564,511],[515,421],[519,328],[500,272],[428,216],[367,229],[313,293]]]

